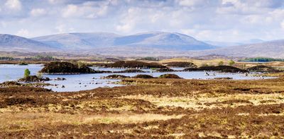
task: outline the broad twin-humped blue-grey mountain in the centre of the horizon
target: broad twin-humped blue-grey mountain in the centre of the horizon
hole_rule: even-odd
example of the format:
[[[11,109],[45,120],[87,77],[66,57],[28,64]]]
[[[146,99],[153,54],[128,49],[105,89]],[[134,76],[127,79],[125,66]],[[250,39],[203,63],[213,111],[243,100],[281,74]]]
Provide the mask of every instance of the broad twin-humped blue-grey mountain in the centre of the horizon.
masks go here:
[[[185,51],[216,48],[210,44],[195,40],[193,37],[170,32],[146,32],[126,36],[106,32],[68,33],[32,39],[53,47],[69,50],[107,49],[108,47],[111,49],[132,47],[135,49],[136,47],[143,47],[145,49]]]

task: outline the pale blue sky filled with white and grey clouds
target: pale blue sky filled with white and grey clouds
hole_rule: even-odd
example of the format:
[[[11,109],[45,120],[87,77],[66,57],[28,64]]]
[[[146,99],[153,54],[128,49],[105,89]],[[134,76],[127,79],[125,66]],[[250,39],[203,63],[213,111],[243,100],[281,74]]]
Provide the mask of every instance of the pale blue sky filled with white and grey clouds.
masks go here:
[[[0,0],[0,34],[149,31],[219,42],[284,39],[284,0]]]

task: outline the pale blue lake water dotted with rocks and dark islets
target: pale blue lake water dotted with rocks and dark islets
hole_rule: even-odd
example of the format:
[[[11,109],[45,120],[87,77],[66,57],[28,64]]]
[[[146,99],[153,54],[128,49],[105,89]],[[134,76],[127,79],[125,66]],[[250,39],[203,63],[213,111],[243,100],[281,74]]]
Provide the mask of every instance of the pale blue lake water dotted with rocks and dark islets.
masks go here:
[[[31,75],[36,75],[41,68],[42,64],[29,64],[26,66],[19,66],[13,64],[0,64],[0,83],[8,80],[18,80],[23,77],[24,70],[28,68],[31,71]],[[98,68],[92,67],[99,71],[124,71],[126,68]],[[183,68],[173,68],[175,70],[182,70]],[[149,71],[150,73],[92,73],[92,74],[79,74],[79,75],[43,75],[50,79],[66,78],[67,80],[50,80],[45,83],[53,84],[45,88],[51,89],[55,92],[74,92],[80,90],[92,90],[97,87],[116,87],[121,86],[116,84],[119,80],[101,79],[104,76],[111,74],[134,76],[137,74],[147,74],[154,77],[163,75],[165,73],[155,73],[151,69],[143,69],[143,71]],[[181,78],[185,79],[213,79],[213,78],[233,78],[234,80],[257,80],[259,77],[246,76],[244,73],[218,73],[207,72],[209,75],[205,75],[205,71],[178,71],[178,72],[166,72],[174,73]],[[268,77],[266,77],[268,78]],[[56,85],[56,86],[55,86]],[[62,87],[64,85],[65,87]]]

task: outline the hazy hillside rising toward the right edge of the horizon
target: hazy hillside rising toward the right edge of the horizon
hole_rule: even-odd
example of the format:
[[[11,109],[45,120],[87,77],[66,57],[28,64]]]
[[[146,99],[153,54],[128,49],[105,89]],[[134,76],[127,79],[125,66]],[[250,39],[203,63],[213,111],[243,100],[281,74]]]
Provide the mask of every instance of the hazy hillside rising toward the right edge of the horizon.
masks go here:
[[[246,57],[275,57],[284,58],[284,40],[274,40],[257,44],[245,44],[234,47],[221,47],[218,49],[204,50],[200,52],[190,52],[195,56],[210,54],[224,56],[246,56]]]

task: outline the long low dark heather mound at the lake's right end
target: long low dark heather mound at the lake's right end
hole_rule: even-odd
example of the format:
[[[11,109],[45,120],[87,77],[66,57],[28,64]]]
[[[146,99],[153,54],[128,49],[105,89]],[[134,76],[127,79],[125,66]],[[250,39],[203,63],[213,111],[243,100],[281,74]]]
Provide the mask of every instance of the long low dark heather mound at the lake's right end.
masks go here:
[[[201,66],[200,68],[185,68],[183,71],[219,71],[228,73],[246,73],[248,71],[234,66]]]

